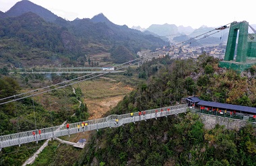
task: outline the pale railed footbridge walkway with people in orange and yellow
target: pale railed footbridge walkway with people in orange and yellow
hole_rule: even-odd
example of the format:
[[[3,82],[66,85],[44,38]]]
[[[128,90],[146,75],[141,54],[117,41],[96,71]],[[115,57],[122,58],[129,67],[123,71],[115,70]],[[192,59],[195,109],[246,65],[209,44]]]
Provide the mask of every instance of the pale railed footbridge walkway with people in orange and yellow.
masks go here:
[[[162,109],[162,112],[160,111]],[[156,110],[158,112],[156,113]],[[53,126],[50,128],[41,128],[41,134],[38,134],[38,130],[30,130],[27,132],[19,132],[15,134],[9,134],[0,136],[0,151],[4,147],[11,147],[15,145],[25,144],[28,142],[38,142],[38,140],[46,140],[48,138],[56,138],[59,136],[65,136],[69,134],[75,134],[78,132],[90,131],[90,130],[98,130],[100,128],[115,128],[122,126],[123,124],[138,122],[141,120],[148,120],[152,118],[159,118],[162,116],[170,116],[173,114],[180,114],[183,112],[187,112],[187,105],[179,105],[179,106],[170,106],[166,108],[157,108],[154,110],[146,110],[146,115],[139,116],[138,112],[133,113],[133,118],[131,118],[130,114],[122,114],[122,115],[110,115],[106,118],[100,118],[96,120],[87,120],[84,122],[88,123],[84,129],[77,128],[79,124],[81,126],[82,122],[76,122],[73,124],[69,124],[69,129],[66,128],[65,125],[61,126]],[[118,119],[119,122],[116,124],[115,120]],[[33,135],[32,132],[35,131],[36,134]]]

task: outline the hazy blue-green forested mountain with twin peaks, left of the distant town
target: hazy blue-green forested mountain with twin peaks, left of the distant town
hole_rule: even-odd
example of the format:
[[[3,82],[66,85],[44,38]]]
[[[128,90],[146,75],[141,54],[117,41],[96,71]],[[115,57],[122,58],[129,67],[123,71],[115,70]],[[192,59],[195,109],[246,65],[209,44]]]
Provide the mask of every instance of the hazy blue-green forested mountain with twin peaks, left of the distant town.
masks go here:
[[[141,49],[154,50],[168,44],[155,36],[113,24],[102,13],[92,19],[69,22],[30,1],[20,1],[1,15],[0,67],[84,66],[88,56],[111,54],[117,46],[125,46],[136,55]]]

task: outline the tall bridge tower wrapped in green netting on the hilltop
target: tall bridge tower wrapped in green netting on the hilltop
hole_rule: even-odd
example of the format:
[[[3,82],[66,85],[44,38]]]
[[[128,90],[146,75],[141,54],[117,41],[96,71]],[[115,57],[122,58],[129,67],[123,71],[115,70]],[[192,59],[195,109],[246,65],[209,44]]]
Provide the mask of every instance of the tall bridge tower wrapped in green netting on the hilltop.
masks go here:
[[[248,38],[248,29],[249,23],[245,21],[230,24],[226,52],[220,67],[241,72],[256,65],[256,36],[250,34],[254,38]]]

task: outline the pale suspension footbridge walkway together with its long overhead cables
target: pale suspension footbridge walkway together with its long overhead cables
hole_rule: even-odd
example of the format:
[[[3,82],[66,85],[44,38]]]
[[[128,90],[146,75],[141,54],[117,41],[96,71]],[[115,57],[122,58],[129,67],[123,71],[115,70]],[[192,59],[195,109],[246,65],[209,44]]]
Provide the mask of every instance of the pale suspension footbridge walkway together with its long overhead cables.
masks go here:
[[[218,30],[218,29],[215,29],[215,30]],[[213,32],[213,31],[214,30],[212,30],[210,32]],[[212,34],[216,34],[220,31],[221,30],[218,30],[217,32],[214,32]],[[207,33],[210,33],[210,32],[207,32]],[[195,38],[199,38],[200,36],[203,36],[202,38],[205,38],[207,36],[212,35],[212,34],[207,35],[207,33],[196,36]],[[191,39],[189,39],[185,42],[189,42],[189,41],[191,41],[192,39],[195,39],[195,38],[191,38]],[[199,38],[198,40],[200,40],[202,38]],[[181,44],[185,44],[185,42],[175,44],[174,46],[179,46]],[[141,58],[131,60],[127,63],[123,63],[123,64],[117,66],[115,71],[123,69],[125,67],[129,67],[131,65],[131,63],[133,63],[133,62],[135,62],[133,64],[142,63]],[[106,72],[106,71],[103,72],[102,71],[102,72],[100,72],[99,75],[90,77],[88,79],[92,79],[92,78],[95,78],[95,77],[98,77],[98,76],[101,76],[101,75],[105,75],[105,74],[108,74],[108,73],[110,73],[110,72],[109,71],[108,72]],[[90,74],[90,75],[92,75],[92,74]],[[89,75],[86,75],[86,76],[83,76],[83,77],[77,77],[76,79],[77,80],[80,79],[80,80],[76,81],[75,83],[79,83],[81,81],[86,81],[87,79],[82,79],[82,78],[88,77],[88,76]],[[76,79],[72,79],[72,80],[69,80],[69,81],[74,81]],[[33,90],[33,91],[29,91],[29,92],[26,92],[26,93],[21,93],[21,94],[10,96],[10,97],[5,97],[3,99],[0,99],[0,101],[3,101],[2,103],[0,103],[0,105],[4,104],[4,103],[9,103],[9,102],[12,102],[12,101],[18,101],[19,99],[24,99],[26,97],[32,97],[32,96],[38,95],[40,93],[45,93],[45,92],[48,92],[48,91],[52,91],[54,89],[59,89],[59,88],[65,87],[67,85],[75,84],[75,83],[69,83],[69,81],[62,82],[65,85],[61,85],[61,83],[57,83],[55,85],[61,85],[61,86],[59,86],[57,88],[50,89],[50,90],[45,90],[45,91],[38,92],[38,90],[49,88],[49,87],[55,86],[55,85],[51,85],[51,86],[48,86],[48,87],[43,87],[43,88],[40,88],[40,89],[36,89],[36,90]],[[23,95],[26,95],[28,93],[30,95],[27,95],[27,96],[23,97]],[[11,98],[13,98],[13,99],[11,99]],[[156,112],[156,110],[158,110],[158,112]],[[66,128],[65,125],[61,125],[61,126],[53,126],[53,127],[50,127],[50,128],[40,128],[40,130],[30,130],[30,131],[26,131],[26,132],[18,132],[18,133],[15,133],[15,134],[3,135],[3,136],[0,136],[0,151],[1,151],[1,149],[5,148],[5,147],[11,147],[11,146],[15,146],[15,145],[20,146],[21,144],[26,144],[28,142],[35,142],[35,141],[38,142],[39,140],[46,140],[46,139],[49,139],[49,138],[57,138],[59,136],[66,136],[66,135],[76,134],[76,133],[79,133],[79,132],[90,131],[90,130],[99,130],[101,128],[116,128],[116,127],[123,126],[124,124],[132,123],[132,122],[135,123],[135,122],[139,122],[139,121],[142,121],[142,120],[149,120],[149,119],[160,118],[160,117],[164,117],[164,116],[167,117],[167,116],[174,115],[174,114],[181,114],[181,113],[187,112],[187,110],[188,110],[187,104],[182,104],[182,105],[178,105],[178,106],[169,106],[169,107],[165,107],[165,108],[157,108],[157,109],[154,109],[154,110],[146,110],[145,115],[139,115],[138,112],[137,112],[137,113],[133,114],[134,115],[133,117],[131,117],[130,114],[122,114],[122,115],[110,115],[106,118],[100,118],[100,119],[95,119],[95,120],[87,120],[86,122],[88,123],[88,126],[86,126],[85,128],[77,128],[77,125],[81,124],[82,122],[75,122],[73,124],[69,124],[69,128]],[[117,119],[119,120],[118,123],[116,122]]]

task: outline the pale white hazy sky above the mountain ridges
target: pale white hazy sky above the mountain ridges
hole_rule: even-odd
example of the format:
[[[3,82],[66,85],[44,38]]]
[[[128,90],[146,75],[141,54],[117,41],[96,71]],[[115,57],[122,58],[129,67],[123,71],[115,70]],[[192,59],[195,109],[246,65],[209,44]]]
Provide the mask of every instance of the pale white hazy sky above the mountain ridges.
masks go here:
[[[21,0],[0,0],[0,11],[9,10]],[[72,21],[103,13],[117,25],[141,26],[175,24],[176,26],[217,27],[243,20],[256,24],[252,0],[30,0],[56,15]],[[251,5],[250,5],[251,4]]]

